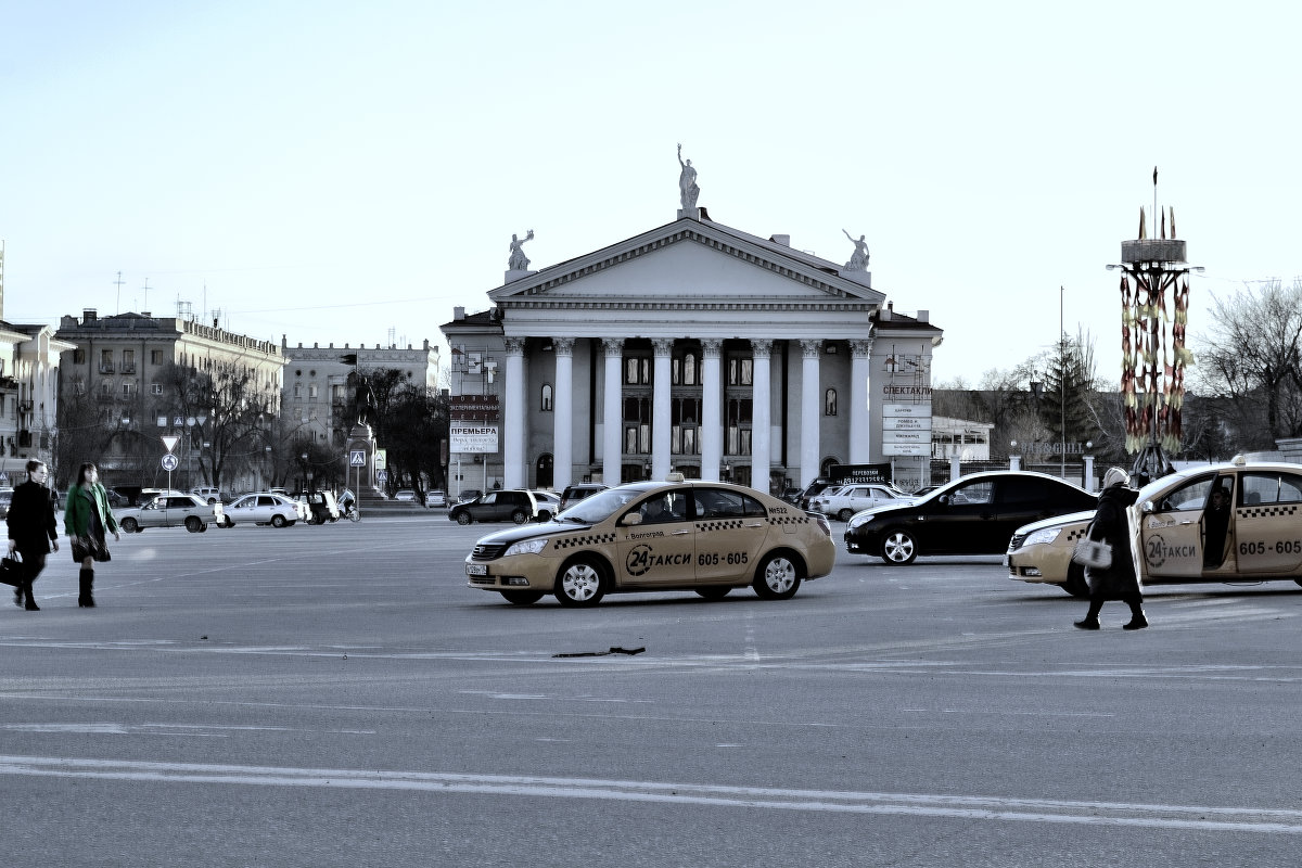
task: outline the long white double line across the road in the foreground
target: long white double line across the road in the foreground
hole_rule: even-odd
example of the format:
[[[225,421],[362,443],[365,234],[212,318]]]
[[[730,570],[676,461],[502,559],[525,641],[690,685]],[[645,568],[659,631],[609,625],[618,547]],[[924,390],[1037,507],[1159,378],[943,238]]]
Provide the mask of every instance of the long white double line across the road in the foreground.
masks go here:
[[[1276,808],[1073,802],[915,793],[796,790],[503,774],[306,769],[199,763],[139,763],[130,760],[12,755],[0,756],[0,774],[132,782],[470,793],[522,798],[704,804],[822,813],[905,815],[996,822],[1059,822],[1221,833],[1302,834],[1302,811]]]

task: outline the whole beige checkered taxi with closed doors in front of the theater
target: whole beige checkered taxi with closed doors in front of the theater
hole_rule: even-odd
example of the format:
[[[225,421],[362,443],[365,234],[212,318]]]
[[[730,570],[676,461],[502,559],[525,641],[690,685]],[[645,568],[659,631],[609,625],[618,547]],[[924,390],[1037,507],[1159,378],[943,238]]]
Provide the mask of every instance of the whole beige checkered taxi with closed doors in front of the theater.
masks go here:
[[[835,560],[825,517],[754,488],[671,478],[608,488],[546,524],[484,536],[466,579],[517,605],[552,593],[591,606],[607,593],[647,591],[717,600],[743,587],[788,600]]]

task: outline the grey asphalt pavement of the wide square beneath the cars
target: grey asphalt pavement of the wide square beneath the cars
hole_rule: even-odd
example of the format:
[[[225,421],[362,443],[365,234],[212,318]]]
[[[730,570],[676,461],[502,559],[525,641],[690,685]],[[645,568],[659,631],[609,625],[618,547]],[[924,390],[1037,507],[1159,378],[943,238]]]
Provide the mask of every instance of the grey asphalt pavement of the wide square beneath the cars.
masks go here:
[[[65,545],[0,609],[5,861],[1297,861],[1292,583],[1087,634],[999,558],[842,549],[789,601],[513,606],[465,583],[493,530],[148,530],[95,609]]]

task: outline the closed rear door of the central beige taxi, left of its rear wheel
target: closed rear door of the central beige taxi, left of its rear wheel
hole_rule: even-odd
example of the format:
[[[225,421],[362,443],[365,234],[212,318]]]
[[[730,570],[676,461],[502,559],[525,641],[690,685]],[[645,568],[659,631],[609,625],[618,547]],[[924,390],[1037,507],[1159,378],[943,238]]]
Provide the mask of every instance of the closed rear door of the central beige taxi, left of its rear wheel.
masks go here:
[[[697,579],[749,580],[768,539],[768,510],[753,497],[721,488],[698,488],[695,508]]]

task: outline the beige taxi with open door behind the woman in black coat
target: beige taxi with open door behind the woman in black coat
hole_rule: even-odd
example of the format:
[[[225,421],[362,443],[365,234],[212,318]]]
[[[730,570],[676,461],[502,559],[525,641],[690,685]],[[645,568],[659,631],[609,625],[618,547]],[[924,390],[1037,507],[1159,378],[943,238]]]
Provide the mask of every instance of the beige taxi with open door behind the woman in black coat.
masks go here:
[[[1008,545],[1009,578],[1088,596],[1072,550],[1094,513],[1019,527]],[[1271,582],[1302,584],[1302,466],[1207,465],[1163,476],[1130,508],[1144,584]]]

